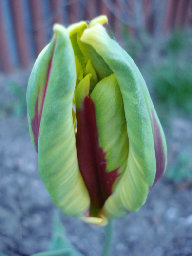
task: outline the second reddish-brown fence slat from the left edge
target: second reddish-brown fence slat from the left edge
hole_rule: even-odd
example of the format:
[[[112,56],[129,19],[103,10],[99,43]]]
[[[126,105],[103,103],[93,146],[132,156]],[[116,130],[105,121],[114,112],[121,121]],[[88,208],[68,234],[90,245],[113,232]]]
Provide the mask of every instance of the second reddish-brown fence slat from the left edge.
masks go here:
[[[22,0],[11,1],[11,8],[21,65],[27,67],[30,63],[30,49],[26,36]]]

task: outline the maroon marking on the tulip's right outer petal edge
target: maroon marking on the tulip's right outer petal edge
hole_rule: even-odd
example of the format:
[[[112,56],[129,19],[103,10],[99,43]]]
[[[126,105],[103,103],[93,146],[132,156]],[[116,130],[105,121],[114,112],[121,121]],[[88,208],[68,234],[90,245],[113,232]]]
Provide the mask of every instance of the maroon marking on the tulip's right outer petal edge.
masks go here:
[[[154,151],[155,151],[155,158],[156,158],[156,175],[154,179],[154,184],[155,184],[163,176],[163,173],[165,170],[165,153],[163,148],[160,127],[156,121],[153,110],[152,110],[152,118],[153,118],[153,124],[154,124]]]

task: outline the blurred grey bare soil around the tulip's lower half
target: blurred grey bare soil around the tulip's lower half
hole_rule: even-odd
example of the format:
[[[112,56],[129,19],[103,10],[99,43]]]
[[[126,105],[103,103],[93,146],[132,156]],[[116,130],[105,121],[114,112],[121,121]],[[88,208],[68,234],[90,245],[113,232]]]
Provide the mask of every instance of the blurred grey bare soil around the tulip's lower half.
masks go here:
[[[27,72],[8,79],[13,78],[26,89]],[[5,107],[14,101],[8,79],[0,75],[0,252],[28,256],[47,250],[57,207],[39,177],[26,115],[18,118]],[[169,171],[177,153],[192,142],[192,118],[174,118],[166,134]],[[85,256],[100,255],[104,228],[60,215],[76,249]],[[192,256],[192,186],[162,178],[145,205],[116,219],[114,226],[111,256]]]

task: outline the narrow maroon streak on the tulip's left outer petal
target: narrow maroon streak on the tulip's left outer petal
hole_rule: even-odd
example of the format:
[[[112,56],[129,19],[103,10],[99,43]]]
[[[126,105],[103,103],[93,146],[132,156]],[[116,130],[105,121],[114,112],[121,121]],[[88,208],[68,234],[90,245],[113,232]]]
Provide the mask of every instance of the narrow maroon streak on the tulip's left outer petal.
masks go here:
[[[51,73],[51,66],[52,66],[52,58],[50,60],[49,67],[48,67],[47,81],[46,81],[44,92],[43,92],[40,113],[38,113],[38,100],[39,100],[39,89],[38,89],[38,95],[37,95],[37,100],[36,100],[36,104],[35,104],[35,115],[34,115],[34,118],[31,120],[31,129],[32,129],[33,135],[34,135],[34,142],[35,142],[35,147],[36,147],[37,153],[38,153],[38,135],[39,135],[39,128],[40,128],[40,121],[41,121],[45,96],[46,96],[46,92],[47,92],[47,85],[48,85],[49,77],[50,77],[50,73]]]

